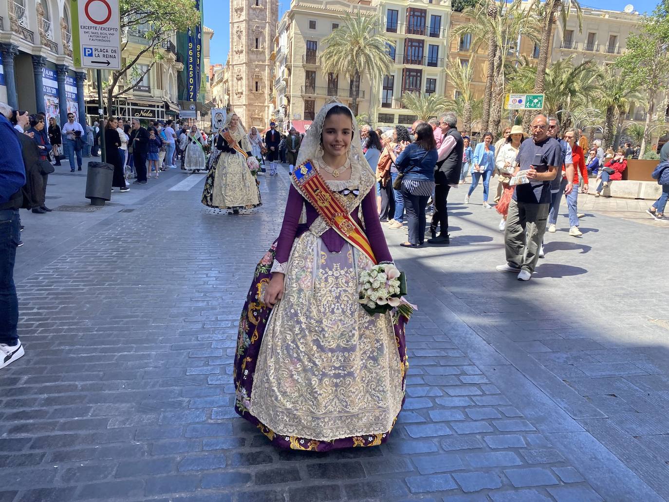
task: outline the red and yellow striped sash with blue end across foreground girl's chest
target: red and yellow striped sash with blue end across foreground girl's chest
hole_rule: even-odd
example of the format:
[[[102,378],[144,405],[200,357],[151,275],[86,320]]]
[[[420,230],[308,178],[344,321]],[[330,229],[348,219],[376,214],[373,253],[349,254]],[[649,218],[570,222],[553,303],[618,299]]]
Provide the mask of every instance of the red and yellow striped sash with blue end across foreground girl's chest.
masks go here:
[[[318,174],[311,161],[307,160],[298,165],[290,175],[295,181],[296,189],[302,194],[302,197],[314,206],[326,224],[334,228],[337,234],[341,235],[349,244],[364,253],[373,264],[377,264],[365,232],[351,218],[351,215],[341,205],[337,197],[334,197],[327,183]]]

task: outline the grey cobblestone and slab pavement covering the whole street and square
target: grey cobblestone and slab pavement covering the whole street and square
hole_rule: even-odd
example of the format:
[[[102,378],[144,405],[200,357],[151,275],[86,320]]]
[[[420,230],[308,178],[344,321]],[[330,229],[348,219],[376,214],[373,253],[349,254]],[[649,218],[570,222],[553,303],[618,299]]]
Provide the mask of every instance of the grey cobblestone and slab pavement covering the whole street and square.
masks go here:
[[[576,239],[561,216],[527,283],[494,270],[480,189],[470,205],[452,191],[448,247],[386,230],[420,309],[405,408],[383,446],[292,452],[235,415],[231,384],[288,177],[264,177],[265,205],[241,216],[205,208],[191,179],[104,214],[22,212],[26,355],[0,373],[0,502],[669,499],[669,324],[654,321],[669,228],[594,212]]]

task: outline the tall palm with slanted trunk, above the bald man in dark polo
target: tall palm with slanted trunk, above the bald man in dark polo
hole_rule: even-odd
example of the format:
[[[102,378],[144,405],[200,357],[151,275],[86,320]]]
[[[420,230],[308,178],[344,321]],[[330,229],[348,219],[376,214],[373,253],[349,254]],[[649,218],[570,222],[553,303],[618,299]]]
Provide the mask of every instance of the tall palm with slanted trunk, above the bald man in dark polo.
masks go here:
[[[553,37],[553,24],[557,17],[560,17],[563,27],[567,26],[567,17],[572,7],[576,11],[576,15],[579,21],[579,33],[583,28],[583,11],[581,11],[581,5],[577,0],[546,0],[543,4],[541,0],[532,0],[532,3],[529,5],[527,11],[528,21],[531,19],[531,13],[533,10],[537,9],[541,15],[541,41],[539,42],[539,60],[537,61],[537,78],[535,80],[535,86],[533,92],[537,94],[543,94],[546,78],[546,68],[548,66],[548,52],[551,47],[551,38]],[[529,121],[531,116],[538,114],[526,113],[525,120],[523,120],[523,125],[529,126]]]

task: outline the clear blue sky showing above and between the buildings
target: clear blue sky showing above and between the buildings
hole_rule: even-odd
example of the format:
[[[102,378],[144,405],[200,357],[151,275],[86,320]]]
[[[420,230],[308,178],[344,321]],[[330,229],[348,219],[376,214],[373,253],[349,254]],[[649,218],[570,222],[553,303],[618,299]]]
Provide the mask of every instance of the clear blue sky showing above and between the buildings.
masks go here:
[[[230,0],[229,0],[230,1]],[[211,64],[225,64],[230,46],[230,9],[228,2],[220,0],[204,0],[205,25],[213,29],[211,40]],[[622,11],[628,3],[634,5],[639,12],[652,12],[657,5],[656,0],[585,0],[581,5],[595,9],[611,9]],[[225,8],[221,8],[225,5]],[[279,19],[290,8],[290,0],[279,0]]]

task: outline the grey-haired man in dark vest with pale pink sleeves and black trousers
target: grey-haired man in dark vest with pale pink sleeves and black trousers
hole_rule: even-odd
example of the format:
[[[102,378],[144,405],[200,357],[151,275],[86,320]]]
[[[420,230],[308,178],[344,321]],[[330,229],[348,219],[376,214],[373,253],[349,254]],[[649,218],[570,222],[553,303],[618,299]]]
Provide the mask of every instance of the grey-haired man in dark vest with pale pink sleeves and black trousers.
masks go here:
[[[440,146],[440,161],[434,168],[434,213],[429,230],[432,239],[427,242],[431,244],[450,244],[448,236],[448,192],[451,185],[460,183],[462,172],[462,153],[464,152],[464,141],[462,135],[456,129],[458,116],[453,112],[444,113],[439,120],[444,137]],[[437,236],[437,226],[440,226],[440,234]]]

